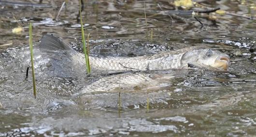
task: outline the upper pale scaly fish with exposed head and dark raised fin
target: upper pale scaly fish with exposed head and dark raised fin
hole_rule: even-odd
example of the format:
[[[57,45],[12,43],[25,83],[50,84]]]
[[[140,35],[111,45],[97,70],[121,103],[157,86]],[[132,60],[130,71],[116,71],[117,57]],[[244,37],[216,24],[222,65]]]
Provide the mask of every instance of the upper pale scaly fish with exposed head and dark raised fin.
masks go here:
[[[43,51],[69,51],[75,62],[85,64],[85,56],[73,50],[61,39],[45,35],[39,45]],[[176,51],[164,51],[155,55],[136,57],[95,57],[90,56],[90,65],[93,69],[101,70],[163,70],[171,68],[188,68],[188,64],[200,67],[211,67],[228,70],[229,57],[217,50],[205,46],[193,46]]]

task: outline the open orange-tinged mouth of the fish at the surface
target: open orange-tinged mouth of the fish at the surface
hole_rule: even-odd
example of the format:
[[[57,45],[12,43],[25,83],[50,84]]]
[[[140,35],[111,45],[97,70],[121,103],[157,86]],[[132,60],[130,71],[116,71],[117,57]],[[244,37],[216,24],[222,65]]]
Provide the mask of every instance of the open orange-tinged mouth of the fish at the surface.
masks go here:
[[[222,69],[222,70],[228,70],[229,65],[229,57],[228,56],[219,56],[212,67]]]

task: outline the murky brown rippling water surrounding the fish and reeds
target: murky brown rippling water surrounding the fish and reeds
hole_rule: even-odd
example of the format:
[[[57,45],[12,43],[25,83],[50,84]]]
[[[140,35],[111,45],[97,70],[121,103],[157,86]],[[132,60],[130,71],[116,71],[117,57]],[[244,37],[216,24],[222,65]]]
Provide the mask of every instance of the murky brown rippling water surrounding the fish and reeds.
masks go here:
[[[69,57],[56,53],[54,66],[39,64],[36,69],[35,99],[32,78],[25,80],[28,28],[21,34],[13,34],[12,28],[32,22],[35,45],[47,33],[81,51],[78,1],[69,0],[57,22],[52,19],[62,1],[49,1],[43,3],[53,5],[51,8],[0,5],[0,45],[12,43],[0,47],[0,136],[256,135],[256,53],[249,51],[256,44],[256,20],[216,14],[215,20],[214,16],[198,17],[203,27],[191,16],[173,18],[170,23],[157,3],[163,10],[174,8],[165,0],[147,0],[146,24],[144,1],[87,0],[82,14],[85,34],[90,33],[90,54],[137,56],[205,45],[229,55],[230,68],[228,72],[187,69],[108,76],[94,71],[86,76],[83,66],[68,68]],[[254,0],[197,1],[229,13],[251,14],[255,19]],[[47,61],[47,56],[37,53],[35,48],[36,60]],[[131,77],[127,82],[126,75]],[[141,78],[138,76],[149,80],[129,84],[132,78]],[[73,96],[97,89],[97,82],[106,79],[112,83],[105,82],[105,92]]]

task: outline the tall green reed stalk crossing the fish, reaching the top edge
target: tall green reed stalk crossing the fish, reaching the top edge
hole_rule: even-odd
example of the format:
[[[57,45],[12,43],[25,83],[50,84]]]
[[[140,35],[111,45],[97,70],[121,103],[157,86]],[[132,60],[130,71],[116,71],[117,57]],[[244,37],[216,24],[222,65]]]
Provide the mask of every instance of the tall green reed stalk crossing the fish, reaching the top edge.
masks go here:
[[[86,64],[87,73],[90,74],[91,68],[90,68],[90,64],[89,64],[89,55],[87,54],[87,50],[85,47],[85,33],[84,33],[84,26],[83,26],[83,21],[82,21],[81,7],[82,7],[81,0],[79,0],[79,14],[80,14],[80,24],[81,24],[81,31],[82,31],[83,50],[84,50],[84,54],[85,54],[85,64]]]

